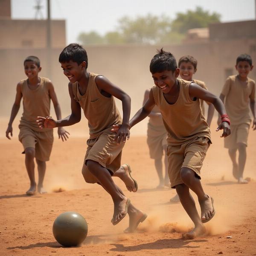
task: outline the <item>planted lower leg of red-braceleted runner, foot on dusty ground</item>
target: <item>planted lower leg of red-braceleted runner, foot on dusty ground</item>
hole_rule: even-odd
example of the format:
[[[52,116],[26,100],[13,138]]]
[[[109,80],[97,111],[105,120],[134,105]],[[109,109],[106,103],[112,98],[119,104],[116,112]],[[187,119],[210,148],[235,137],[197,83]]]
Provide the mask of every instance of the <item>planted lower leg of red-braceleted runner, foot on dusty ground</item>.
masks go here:
[[[177,185],[175,188],[183,208],[195,224],[195,228],[192,231],[183,234],[182,238],[194,239],[197,236],[203,235],[205,233],[205,228],[196,210],[195,201],[189,193],[189,188],[185,184]]]

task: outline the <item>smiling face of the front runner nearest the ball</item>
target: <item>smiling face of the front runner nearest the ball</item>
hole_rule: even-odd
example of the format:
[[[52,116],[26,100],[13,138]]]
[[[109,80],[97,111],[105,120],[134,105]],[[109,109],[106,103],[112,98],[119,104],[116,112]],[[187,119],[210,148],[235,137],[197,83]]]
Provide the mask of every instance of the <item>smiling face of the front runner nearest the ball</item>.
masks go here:
[[[83,61],[81,64],[78,64],[74,61],[61,62],[61,68],[63,73],[71,83],[79,81],[83,75],[83,71],[86,67],[86,62]]]

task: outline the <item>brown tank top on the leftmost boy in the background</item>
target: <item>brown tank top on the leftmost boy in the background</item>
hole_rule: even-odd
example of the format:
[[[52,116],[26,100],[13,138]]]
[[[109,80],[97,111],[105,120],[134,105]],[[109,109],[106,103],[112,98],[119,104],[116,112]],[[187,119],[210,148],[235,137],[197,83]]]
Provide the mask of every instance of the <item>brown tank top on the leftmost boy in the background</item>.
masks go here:
[[[21,80],[21,93],[23,97],[23,114],[20,125],[27,126],[34,131],[49,131],[41,129],[36,122],[37,116],[50,116],[49,79],[40,77],[40,84],[31,90],[28,79]]]

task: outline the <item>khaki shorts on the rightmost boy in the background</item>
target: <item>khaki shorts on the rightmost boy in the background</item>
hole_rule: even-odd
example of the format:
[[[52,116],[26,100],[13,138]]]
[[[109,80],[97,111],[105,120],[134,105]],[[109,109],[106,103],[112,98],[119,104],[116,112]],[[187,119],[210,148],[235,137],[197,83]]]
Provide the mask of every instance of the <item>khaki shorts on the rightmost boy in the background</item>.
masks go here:
[[[230,125],[231,134],[224,138],[224,147],[235,149],[237,148],[237,143],[243,143],[247,146],[249,128],[250,125],[246,123]]]

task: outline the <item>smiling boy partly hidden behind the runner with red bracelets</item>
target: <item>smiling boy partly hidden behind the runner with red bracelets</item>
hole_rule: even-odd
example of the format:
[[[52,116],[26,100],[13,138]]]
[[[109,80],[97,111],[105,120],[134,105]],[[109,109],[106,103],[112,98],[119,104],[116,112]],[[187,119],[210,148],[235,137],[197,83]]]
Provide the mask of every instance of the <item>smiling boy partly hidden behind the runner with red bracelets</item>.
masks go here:
[[[193,75],[197,71],[197,60],[194,57],[192,57],[190,55],[185,55],[185,56],[181,57],[178,62],[178,67],[180,69],[181,79],[186,80],[186,81],[192,81],[195,84],[198,84],[199,86],[204,88],[205,90],[208,90],[203,81],[193,79]],[[211,103],[209,103],[209,102],[206,102],[206,103],[208,104],[207,123],[210,127],[211,122],[212,122],[213,113],[214,113],[214,107]],[[201,105],[202,112],[204,115],[204,113],[205,113],[204,101],[201,99],[200,99],[200,105]],[[170,201],[173,203],[176,203],[176,202],[179,202],[180,200],[179,200],[178,195],[175,195],[175,197],[171,198]]]

